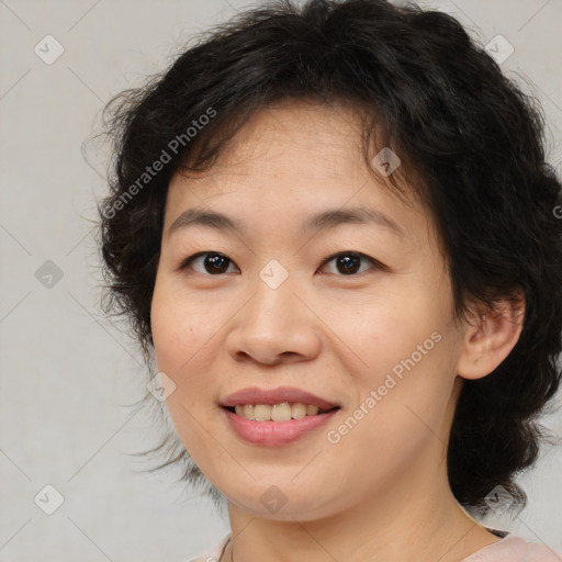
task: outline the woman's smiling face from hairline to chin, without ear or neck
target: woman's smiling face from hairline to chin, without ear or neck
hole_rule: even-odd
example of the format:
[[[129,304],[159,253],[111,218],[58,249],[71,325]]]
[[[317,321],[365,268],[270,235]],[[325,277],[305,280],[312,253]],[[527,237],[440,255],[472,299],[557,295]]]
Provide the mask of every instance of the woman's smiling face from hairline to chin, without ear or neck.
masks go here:
[[[344,109],[280,103],[169,187],[151,307],[167,406],[207,480],[263,517],[327,517],[442,476],[462,342],[450,280],[428,212],[369,172],[359,131]],[[291,404],[314,398],[281,387],[338,408],[300,418]],[[223,407],[247,389],[273,394],[243,404],[295,418]]]

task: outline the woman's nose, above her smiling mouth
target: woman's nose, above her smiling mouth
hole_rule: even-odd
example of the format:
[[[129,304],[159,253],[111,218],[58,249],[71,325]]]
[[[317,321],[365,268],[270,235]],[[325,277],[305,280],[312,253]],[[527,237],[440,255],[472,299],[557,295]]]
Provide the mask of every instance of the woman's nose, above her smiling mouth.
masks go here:
[[[268,366],[314,359],[322,346],[321,323],[291,276],[276,289],[258,279],[251,290],[226,340],[231,357]]]

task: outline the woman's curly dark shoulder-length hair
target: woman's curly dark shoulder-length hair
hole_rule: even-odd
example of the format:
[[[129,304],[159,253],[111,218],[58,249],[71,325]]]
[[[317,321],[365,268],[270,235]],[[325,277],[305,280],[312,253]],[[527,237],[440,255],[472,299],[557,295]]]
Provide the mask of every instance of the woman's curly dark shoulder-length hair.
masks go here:
[[[209,169],[251,114],[276,101],[361,111],[366,160],[378,127],[402,159],[391,189],[415,190],[435,220],[456,318],[473,301],[493,307],[525,296],[515,348],[491,374],[464,381],[448,448],[460,504],[483,514],[486,494],[503,485],[525,506],[515,479],[548,435],[539,415],[559,387],[562,350],[561,183],[546,162],[539,102],[454,18],[415,4],[280,0],[194,38],[169,69],[105,109],[114,159],[110,194],[98,203],[103,311],[128,319],[149,364],[172,176]],[[205,481],[177,437],[149,452],[162,450],[157,469],[184,461],[182,479]],[[222,496],[210,484],[206,492]]]

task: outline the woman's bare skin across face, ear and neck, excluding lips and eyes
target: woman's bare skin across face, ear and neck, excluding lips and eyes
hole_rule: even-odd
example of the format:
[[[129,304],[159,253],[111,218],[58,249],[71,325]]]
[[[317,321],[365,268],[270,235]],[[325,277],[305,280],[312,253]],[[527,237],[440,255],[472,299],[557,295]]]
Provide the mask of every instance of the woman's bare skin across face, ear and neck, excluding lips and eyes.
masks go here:
[[[463,379],[485,376],[507,357],[522,308],[499,302],[501,314],[454,322],[429,213],[369,173],[359,126],[349,109],[277,103],[252,115],[210,171],[177,175],[169,187],[151,307],[156,359],[176,384],[167,406],[181,441],[228,499],[235,539],[224,560],[452,562],[498,540],[456,502],[447,439]],[[379,224],[299,232],[314,213],[356,205],[381,211],[403,235]],[[195,206],[247,229],[191,225],[169,235]],[[227,256],[227,272],[210,273],[204,258],[179,270],[199,251]],[[339,251],[384,268],[368,258],[353,276],[336,260],[323,266]],[[289,274],[277,289],[259,277],[271,259]],[[473,306],[475,318],[486,313]],[[440,341],[330,443],[327,432],[434,333]],[[241,441],[218,402],[279,385],[341,409],[283,447]],[[286,497],[274,514],[260,502],[271,485]]]

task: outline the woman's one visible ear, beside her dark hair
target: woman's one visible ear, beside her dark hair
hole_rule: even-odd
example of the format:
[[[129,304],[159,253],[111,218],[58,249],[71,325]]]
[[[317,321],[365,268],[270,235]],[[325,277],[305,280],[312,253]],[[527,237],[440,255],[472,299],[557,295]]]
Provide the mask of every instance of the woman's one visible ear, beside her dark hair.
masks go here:
[[[517,344],[525,318],[525,297],[516,293],[513,300],[499,300],[494,308],[474,306],[476,322],[464,322],[461,355],[457,373],[463,379],[482,379],[509,355]]]

